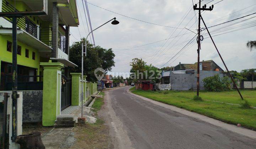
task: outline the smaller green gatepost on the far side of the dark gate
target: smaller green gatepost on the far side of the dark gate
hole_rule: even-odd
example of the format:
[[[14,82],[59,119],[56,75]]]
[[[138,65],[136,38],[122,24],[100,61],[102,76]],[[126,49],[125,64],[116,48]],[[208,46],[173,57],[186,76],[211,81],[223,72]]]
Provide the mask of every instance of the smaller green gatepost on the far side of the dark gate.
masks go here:
[[[80,104],[80,76],[82,73],[70,73],[72,76],[71,105]]]

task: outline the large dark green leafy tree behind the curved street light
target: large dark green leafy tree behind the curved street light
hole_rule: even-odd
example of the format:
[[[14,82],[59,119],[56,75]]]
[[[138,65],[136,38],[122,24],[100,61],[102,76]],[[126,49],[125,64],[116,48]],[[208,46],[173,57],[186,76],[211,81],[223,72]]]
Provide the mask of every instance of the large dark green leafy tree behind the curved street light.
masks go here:
[[[70,46],[69,60],[78,67],[71,68],[72,72],[81,72],[81,45],[85,44],[85,38],[75,42]],[[114,66],[114,53],[112,49],[104,49],[100,46],[94,47],[87,41],[87,55],[84,56],[84,74],[86,80],[96,82],[97,78],[94,75],[96,68],[103,68],[105,72],[110,71]]]

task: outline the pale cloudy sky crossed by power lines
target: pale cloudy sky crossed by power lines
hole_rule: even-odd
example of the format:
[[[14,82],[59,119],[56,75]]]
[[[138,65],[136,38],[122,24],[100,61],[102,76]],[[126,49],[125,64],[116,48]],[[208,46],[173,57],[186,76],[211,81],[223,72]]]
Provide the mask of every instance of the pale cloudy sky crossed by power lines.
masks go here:
[[[219,1],[203,0],[202,5],[209,2],[207,4],[209,7]],[[112,48],[116,55],[115,66],[108,74],[116,75],[121,72],[129,72],[129,63],[136,57],[142,58],[148,65],[152,64],[159,68],[176,66],[179,62],[182,64],[197,62],[196,38],[192,38],[196,35],[193,32],[197,32],[198,29],[198,11],[192,9],[192,0],[87,0],[87,2],[131,17],[124,17],[88,4],[93,29],[113,17],[120,22],[118,25],[108,23],[94,31],[95,44],[105,49]],[[193,2],[195,4],[199,0],[193,0]],[[71,44],[88,34],[82,0],[77,0],[77,3],[80,11],[78,12],[80,25],[78,28],[71,27],[70,29]],[[212,11],[203,11],[202,17],[207,27],[211,27],[255,11],[255,0],[223,0],[215,4]],[[194,17],[195,13],[197,21]],[[256,40],[255,16],[256,14],[209,28],[212,36],[217,35],[213,37],[213,40],[229,70],[239,72],[243,69],[256,68],[256,50],[250,51],[246,48],[248,40]],[[242,20],[245,21],[241,22]],[[249,26],[252,27],[245,28]],[[202,20],[201,28],[204,28]],[[234,31],[237,29],[241,30]],[[200,60],[214,60],[223,70],[226,70],[212,41],[207,38],[209,37],[207,31],[204,30],[201,34],[204,39],[201,42]],[[89,42],[91,42],[90,38]]]

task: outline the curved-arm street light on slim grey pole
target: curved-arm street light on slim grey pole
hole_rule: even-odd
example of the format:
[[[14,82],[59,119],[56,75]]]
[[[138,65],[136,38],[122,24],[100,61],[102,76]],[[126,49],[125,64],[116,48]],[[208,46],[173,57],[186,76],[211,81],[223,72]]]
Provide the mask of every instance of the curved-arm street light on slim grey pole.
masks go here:
[[[113,20],[113,21],[112,21]],[[119,22],[116,20],[116,17],[112,18],[110,21],[111,24],[113,25],[117,25],[119,24]],[[107,24],[108,22],[102,24],[101,26],[95,28],[94,30],[92,30],[90,33],[92,33],[93,31],[95,31],[96,29],[102,27],[103,25]],[[83,102],[84,102],[84,54],[86,56],[86,48],[87,48],[87,38],[90,35],[90,33],[87,35],[86,39],[85,39],[85,45],[82,43],[82,83],[81,83],[81,117],[83,117]],[[85,52],[84,52],[84,46],[85,46]]]

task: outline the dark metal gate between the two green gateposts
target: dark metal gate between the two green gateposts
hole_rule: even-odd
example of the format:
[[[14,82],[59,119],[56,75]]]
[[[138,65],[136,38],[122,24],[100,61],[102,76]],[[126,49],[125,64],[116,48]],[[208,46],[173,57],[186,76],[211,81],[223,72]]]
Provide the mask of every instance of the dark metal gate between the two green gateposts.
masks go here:
[[[71,105],[71,79],[62,75],[62,87],[61,87],[61,111]]]

